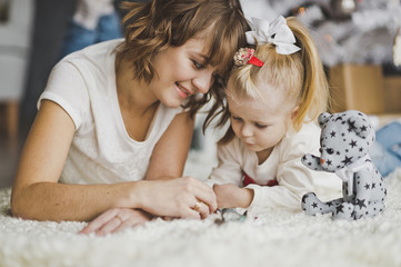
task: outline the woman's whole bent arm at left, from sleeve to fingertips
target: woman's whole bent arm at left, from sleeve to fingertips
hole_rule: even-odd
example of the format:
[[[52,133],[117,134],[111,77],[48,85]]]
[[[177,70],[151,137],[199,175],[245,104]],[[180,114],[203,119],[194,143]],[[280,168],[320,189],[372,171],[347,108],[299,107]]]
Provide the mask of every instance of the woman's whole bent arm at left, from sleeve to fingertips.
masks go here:
[[[14,216],[37,220],[91,220],[110,208],[199,218],[197,199],[215,207],[214,195],[193,178],[112,185],[58,184],[74,123],[57,103],[43,100],[21,154],[11,196]],[[168,171],[166,172],[168,174]],[[170,174],[169,174],[170,175]]]

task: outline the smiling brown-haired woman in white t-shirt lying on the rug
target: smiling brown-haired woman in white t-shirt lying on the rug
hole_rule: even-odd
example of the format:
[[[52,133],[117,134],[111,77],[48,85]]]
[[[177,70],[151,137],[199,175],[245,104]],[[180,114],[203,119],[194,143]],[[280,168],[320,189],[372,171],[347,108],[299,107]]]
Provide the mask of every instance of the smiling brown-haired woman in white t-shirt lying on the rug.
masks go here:
[[[19,162],[13,216],[91,220],[110,210],[87,228],[104,234],[148,214],[203,218],[217,208],[211,188],[181,176],[193,116],[211,97],[221,101],[220,78],[245,44],[240,2],[126,8],[124,39],[71,53],[52,70]]]

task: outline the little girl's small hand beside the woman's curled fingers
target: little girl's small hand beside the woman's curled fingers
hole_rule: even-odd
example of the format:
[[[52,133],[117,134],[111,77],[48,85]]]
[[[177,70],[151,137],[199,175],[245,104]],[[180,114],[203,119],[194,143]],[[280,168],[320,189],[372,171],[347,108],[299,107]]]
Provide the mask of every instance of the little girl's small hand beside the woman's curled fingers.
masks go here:
[[[253,190],[232,184],[214,185],[219,208],[248,208],[253,199]]]

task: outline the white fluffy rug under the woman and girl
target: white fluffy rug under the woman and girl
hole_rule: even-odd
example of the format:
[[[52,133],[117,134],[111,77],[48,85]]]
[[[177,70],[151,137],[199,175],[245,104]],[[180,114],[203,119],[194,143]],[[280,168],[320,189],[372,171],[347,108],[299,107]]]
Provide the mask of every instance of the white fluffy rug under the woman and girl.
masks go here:
[[[257,220],[215,225],[161,219],[106,237],[78,235],[77,221],[9,216],[0,191],[0,266],[401,266],[401,169],[387,177],[385,211],[372,219],[272,210]]]

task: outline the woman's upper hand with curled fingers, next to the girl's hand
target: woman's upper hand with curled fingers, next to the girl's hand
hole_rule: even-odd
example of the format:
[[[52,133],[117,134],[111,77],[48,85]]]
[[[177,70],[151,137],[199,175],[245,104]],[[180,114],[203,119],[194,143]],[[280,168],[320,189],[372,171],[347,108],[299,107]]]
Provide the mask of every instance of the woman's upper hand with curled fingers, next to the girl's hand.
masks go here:
[[[213,190],[192,177],[142,181],[141,186],[139,207],[150,214],[201,219],[217,209]]]

